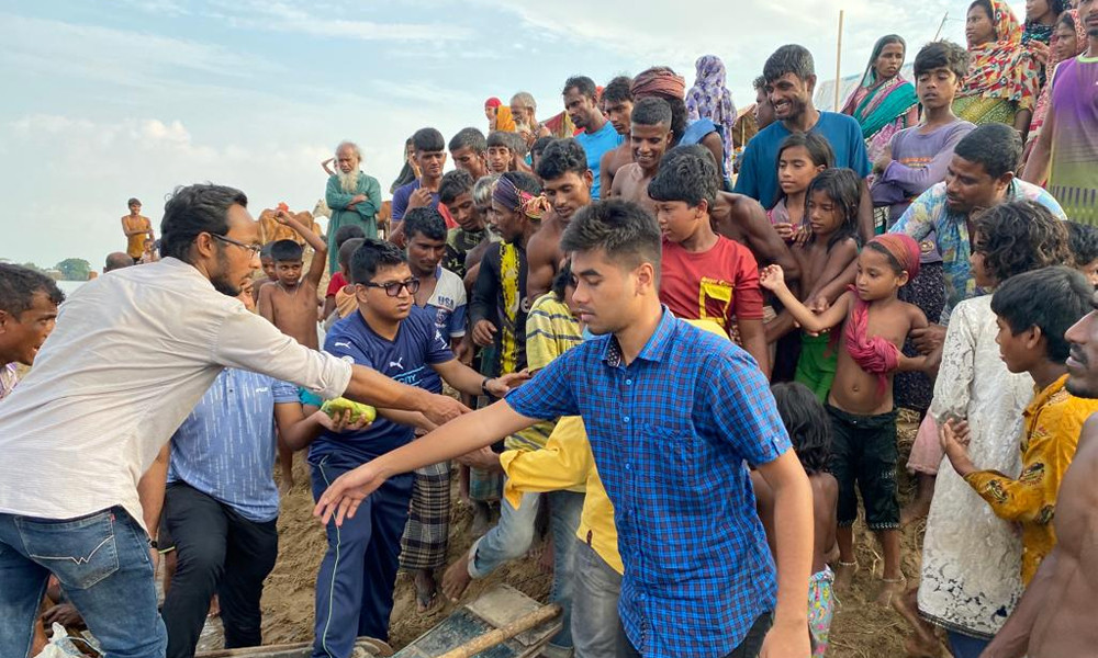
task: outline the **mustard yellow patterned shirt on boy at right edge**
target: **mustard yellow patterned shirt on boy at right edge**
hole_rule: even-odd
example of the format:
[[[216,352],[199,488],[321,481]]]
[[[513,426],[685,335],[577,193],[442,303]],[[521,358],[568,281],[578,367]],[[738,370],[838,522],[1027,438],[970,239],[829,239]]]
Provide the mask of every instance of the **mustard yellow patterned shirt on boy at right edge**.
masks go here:
[[[1052,519],[1060,483],[1075,457],[1083,423],[1098,411],[1098,400],[1071,395],[1064,388],[1066,382],[1067,375],[1056,379],[1026,408],[1022,472],[1018,479],[997,470],[977,470],[964,478],[997,517],[1021,524],[1026,585],[1056,545]]]

